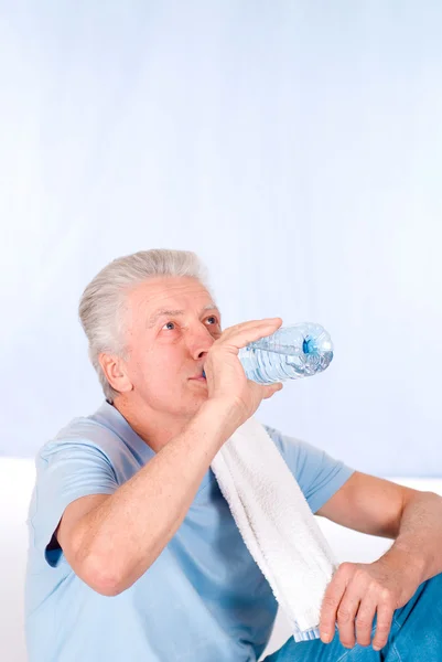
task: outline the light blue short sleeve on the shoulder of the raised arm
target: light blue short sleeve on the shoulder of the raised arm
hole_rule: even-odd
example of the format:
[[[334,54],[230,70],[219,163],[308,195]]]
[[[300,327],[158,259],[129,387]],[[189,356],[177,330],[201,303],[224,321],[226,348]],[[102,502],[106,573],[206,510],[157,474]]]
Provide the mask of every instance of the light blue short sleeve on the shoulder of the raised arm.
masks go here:
[[[69,503],[90,494],[112,494],[118,488],[109,458],[96,445],[77,439],[43,447],[36,458],[36,480],[29,524],[34,546],[55,567],[63,551],[50,545]]]

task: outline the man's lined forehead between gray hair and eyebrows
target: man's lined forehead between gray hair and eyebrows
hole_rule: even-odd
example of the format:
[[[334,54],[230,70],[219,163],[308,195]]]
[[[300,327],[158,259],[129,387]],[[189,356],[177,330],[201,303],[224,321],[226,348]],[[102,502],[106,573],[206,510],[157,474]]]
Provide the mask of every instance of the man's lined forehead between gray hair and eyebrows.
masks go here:
[[[195,278],[154,278],[137,286],[129,295],[130,308],[151,314],[163,308],[193,309],[214,303]]]

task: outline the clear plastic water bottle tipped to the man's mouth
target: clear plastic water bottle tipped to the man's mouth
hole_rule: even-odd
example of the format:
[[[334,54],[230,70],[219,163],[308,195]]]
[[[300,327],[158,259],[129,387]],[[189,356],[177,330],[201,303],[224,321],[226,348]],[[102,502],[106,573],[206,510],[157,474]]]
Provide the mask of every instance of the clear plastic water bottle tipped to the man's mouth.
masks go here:
[[[333,343],[321,324],[301,322],[250,342],[239,350],[238,357],[248,380],[272,384],[326,370],[333,360]]]

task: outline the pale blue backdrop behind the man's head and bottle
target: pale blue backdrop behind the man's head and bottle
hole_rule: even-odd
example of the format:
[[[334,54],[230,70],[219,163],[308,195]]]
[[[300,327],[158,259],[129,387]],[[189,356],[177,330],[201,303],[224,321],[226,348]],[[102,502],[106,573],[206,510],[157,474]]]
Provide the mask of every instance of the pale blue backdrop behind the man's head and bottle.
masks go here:
[[[441,476],[441,34],[435,0],[0,0],[0,452],[96,409],[79,296],[171,247],[207,264],[225,327],[332,334],[262,421]]]

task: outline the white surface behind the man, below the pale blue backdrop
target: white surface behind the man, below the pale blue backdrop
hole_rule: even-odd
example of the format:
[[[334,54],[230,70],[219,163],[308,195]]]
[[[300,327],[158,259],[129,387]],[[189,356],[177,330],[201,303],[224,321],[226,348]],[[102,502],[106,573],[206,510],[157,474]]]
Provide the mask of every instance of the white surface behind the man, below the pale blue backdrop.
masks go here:
[[[442,494],[442,480],[390,480]],[[28,549],[25,520],[33,483],[32,460],[0,459],[0,660],[8,662],[26,660],[23,636],[23,589]],[[316,520],[341,562],[370,563],[392,544],[392,541],[351,531],[323,517]],[[289,637],[290,627],[279,612],[265,655],[280,648]]]

